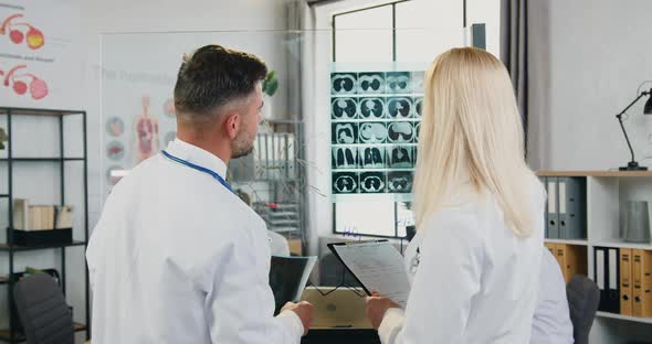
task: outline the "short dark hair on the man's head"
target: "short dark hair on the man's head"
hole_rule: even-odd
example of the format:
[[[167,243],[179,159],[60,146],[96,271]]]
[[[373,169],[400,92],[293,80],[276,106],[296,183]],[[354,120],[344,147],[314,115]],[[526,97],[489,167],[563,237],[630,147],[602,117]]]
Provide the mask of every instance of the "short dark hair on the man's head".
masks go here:
[[[217,108],[249,96],[266,75],[267,66],[255,55],[214,44],[202,46],[181,63],[175,108],[177,114],[209,118]]]

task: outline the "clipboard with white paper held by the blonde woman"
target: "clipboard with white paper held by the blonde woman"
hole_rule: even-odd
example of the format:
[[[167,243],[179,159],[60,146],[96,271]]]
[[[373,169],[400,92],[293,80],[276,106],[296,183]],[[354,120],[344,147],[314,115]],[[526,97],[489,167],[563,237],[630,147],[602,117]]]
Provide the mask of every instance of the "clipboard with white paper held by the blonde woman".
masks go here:
[[[362,286],[406,307],[410,282],[403,257],[387,239],[328,244],[328,249]]]

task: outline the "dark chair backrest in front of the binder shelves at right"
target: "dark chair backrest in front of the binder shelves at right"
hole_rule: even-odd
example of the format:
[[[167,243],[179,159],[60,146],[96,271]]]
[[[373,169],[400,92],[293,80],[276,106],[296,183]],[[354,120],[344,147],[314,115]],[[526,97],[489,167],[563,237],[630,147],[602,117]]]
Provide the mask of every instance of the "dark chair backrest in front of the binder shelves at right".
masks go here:
[[[566,297],[570,309],[575,343],[588,344],[591,325],[600,303],[600,290],[586,276],[576,275],[566,284]]]

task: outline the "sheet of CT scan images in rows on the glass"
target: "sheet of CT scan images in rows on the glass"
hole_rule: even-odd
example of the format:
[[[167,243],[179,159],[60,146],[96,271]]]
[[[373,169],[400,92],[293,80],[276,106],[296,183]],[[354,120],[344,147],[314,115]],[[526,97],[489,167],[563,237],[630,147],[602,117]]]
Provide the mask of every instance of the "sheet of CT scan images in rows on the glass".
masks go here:
[[[330,74],[333,194],[412,189],[423,72]]]

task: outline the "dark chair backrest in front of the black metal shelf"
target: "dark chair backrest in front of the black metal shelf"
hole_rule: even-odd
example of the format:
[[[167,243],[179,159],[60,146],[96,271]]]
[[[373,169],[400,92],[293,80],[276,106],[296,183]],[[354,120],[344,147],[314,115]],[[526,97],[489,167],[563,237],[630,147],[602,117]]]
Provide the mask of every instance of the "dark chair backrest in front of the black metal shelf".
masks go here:
[[[63,292],[46,273],[21,279],[13,288],[28,344],[74,344],[74,324]]]

